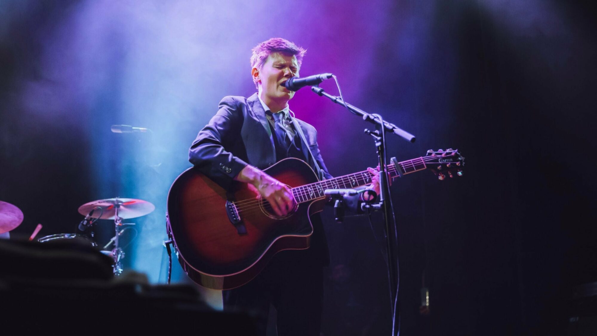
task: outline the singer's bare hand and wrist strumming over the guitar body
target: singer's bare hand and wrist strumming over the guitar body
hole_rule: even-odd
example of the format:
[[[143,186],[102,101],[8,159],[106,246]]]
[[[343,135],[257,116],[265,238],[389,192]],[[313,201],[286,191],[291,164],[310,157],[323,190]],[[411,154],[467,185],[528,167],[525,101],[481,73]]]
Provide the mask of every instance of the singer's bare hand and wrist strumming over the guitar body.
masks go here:
[[[245,166],[235,180],[254,185],[257,192],[271,204],[273,212],[278,216],[288,215],[294,209],[295,202],[290,188],[267,175],[263,170]]]

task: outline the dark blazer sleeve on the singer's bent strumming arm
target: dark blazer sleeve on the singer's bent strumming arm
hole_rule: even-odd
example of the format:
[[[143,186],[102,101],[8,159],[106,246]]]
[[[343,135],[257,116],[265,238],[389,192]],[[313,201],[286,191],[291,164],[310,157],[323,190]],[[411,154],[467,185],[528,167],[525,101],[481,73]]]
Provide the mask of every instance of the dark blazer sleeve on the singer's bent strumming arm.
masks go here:
[[[242,106],[232,96],[224,97],[218,112],[199,131],[189,149],[189,161],[220,187],[228,189],[247,163],[230,152],[241,136]]]

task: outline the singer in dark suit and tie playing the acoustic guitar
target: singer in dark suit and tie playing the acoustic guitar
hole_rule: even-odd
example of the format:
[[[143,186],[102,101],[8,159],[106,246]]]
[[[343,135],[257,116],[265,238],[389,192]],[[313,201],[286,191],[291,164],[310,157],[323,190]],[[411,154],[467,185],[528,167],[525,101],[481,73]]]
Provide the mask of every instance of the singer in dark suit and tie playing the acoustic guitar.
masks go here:
[[[232,181],[253,185],[279,216],[293,209],[293,196],[262,169],[294,157],[309,163],[320,179],[331,178],[319,152],[315,128],[293,117],[288,101],[294,91],[284,86],[298,77],[305,52],[282,38],[254,47],[251,75],[257,93],[248,98],[224,97],[189,150],[189,161],[214,182],[224,189]],[[377,170],[369,170],[376,176],[368,188],[379,194]],[[321,218],[316,216],[312,218],[310,248],[275,255],[247,285],[224,292],[224,308],[258,310],[267,316],[273,304],[278,335],[319,335],[322,267],[329,263],[329,253]],[[265,335],[266,325],[259,328]]]

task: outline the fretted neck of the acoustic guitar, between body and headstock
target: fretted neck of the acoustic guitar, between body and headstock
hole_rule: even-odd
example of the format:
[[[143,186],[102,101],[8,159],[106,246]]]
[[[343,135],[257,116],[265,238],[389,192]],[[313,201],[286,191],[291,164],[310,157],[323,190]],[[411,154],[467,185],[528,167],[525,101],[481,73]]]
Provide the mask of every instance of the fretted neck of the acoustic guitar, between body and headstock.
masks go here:
[[[388,164],[387,171],[391,178],[396,178],[401,175],[426,169],[426,167],[424,158],[419,157],[412,160],[402,161],[398,164]],[[361,187],[362,185],[370,184],[371,178],[373,178],[373,174],[364,170],[362,172],[339,176],[337,178],[331,178],[312,184],[301,185],[300,187],[292,188],[292,191],[294,199],[298,203],[304,203],[316,200],[317,198],[325,198],[324,190],[326,189],[352,189]]]

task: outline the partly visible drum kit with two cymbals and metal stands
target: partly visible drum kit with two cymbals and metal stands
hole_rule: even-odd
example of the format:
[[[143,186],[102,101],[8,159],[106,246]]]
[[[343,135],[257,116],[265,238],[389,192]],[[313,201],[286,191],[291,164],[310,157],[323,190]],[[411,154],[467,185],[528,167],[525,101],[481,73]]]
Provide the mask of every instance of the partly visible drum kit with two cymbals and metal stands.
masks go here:
[[[88,231],[91,228],[89,234],[81,233],[61,233],[53,234],[51,236],[45,236],[38,239],[38,242],[48,243],[55,242],[57,240],[72,240],[90,244],[92,246],[98,246],[94,242],[94,224],[98,219],[110,219],[114,221],[115,236],[103,246],[101,253],[110,256],[113,259],[113,270],[116,276],[122,273],[121,260],[124,258],[124,252],[122,251],[121,242],[119,237],[124,232],[124,225],[134,225],[133,223],[123,223],[122,219],[131,219],[141,216],[148,215],[155,210],[155,206],[144,200],[137,200],[135,198],[107,198],[105,200],[91,201],[85,203],[79,207],[78,211],[81,215],[85,216],[85,219],[79,224],[79,231]],[[23,222],[23,212],[19,207],[13,204],[0,201],[0,237],[2,234],[8,233],[8,231],[14,230]],[[35,232],[32,234],[29,240],[33,240],[35,235],[41,229],[41,225],[38,225]],[[111,250],[108,250],[113,245]]]

